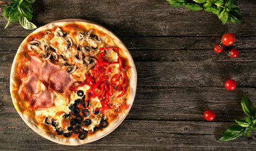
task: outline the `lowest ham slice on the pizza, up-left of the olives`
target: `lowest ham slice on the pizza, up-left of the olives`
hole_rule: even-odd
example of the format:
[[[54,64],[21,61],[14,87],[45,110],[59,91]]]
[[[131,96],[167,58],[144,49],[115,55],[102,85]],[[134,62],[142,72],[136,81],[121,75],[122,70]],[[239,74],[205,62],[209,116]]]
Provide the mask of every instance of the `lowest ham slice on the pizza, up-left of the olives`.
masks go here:
[[[53,93],[49,90],[42,90],[36,94],[33,94],[32,101],[30,101],[30,108],[37,110],[40,108],[49,108],[54,106],[52,99]]]

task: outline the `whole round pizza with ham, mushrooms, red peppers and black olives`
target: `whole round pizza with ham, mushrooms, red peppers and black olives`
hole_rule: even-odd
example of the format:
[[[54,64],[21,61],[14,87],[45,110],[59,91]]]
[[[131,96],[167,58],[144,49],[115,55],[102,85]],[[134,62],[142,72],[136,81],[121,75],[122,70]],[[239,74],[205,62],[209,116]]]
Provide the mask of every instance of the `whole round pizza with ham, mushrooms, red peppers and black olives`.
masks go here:
[[[13,104],[32,130],[56,143],[81,145],[106,136],[125,119],[137,72],[114,33],[70,19],[28,35],[10,79]]]

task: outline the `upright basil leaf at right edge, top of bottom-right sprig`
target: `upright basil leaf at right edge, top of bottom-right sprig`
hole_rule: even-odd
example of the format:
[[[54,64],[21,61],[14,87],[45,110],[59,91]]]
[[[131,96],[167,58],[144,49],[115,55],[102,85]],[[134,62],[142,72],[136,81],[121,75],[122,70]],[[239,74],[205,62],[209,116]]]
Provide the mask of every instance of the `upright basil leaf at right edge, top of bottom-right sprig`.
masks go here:
[[[241,107],[246,115],[251,118],[255,117],[255,108],[250,100],[247,99],[247,96],[243,94],[243,99],[241,101]]]

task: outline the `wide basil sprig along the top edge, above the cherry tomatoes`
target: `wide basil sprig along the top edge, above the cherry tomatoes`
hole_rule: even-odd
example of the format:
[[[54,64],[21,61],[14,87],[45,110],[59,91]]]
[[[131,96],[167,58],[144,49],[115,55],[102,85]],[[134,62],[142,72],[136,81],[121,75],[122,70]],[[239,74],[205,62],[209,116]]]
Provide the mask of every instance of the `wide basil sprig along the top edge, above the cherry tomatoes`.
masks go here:
[[[228,21],[230,23],[241,23],[245,20],[242,19],[241,11],[236,6],[235,0],[193,0],[189,3],[188,0],[167,0],[174,7],[186,6],[192,11],[205,11],[214,13],[222,21],[223,25]]]

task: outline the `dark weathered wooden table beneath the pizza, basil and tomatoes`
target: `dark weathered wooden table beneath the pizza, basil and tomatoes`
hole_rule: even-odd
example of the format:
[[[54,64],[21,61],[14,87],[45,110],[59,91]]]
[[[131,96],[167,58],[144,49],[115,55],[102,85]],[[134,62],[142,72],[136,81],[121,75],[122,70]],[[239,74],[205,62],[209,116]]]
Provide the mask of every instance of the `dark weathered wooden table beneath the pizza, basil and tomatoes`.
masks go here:
[[[32,131],[21,120],[9,94],[11,64],[32,31],[0,18],[0,150],[255,150],[249,137],[217,142],[235,119],[245,117],[243,92],[256,105],[256,2],[238,0],[245,23],[222,25],[215,14],[174,8],[165,0],[39,0],[32,22],[42,26],[64,18],[82,18],[118,35],[135,61],[138,85],[125,121],[96,142],[59,145]],[[6,4],[0,4],[3,10]],[[234,33],[240,51],[215,53],[222,34]],[[224,87],[237,82],[235,91]],[[214,121],[204,120],[212,109]]]

